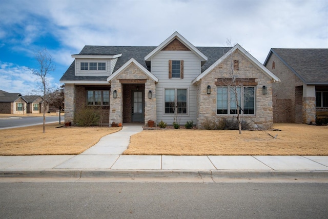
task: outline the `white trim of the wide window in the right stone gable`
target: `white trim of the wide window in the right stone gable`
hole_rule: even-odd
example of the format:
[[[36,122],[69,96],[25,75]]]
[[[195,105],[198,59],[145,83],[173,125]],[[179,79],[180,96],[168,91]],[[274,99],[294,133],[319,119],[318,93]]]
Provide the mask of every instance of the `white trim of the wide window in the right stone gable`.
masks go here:
[[[217,113],[217,89],[216,89],[216,91],[215,91],[215,99],[216,99],[216,106],[215,106],[215,113],[216,113],[216,115],[217,116],[222,116],[222,117],[227,117],[227,116],[229,116],[229,117],[233,117],[233,116],[237,116],[237,113],[236,114],[230,114],[230,100],[231,100],[231,98],[230,98],[230,85],[229,86],[216,86],[216,88],[218,88],[218,87],[228,87],[228,113],[227,114],[218,114]],[[256,86],[237,86],[237,87],[241,87],[242,89],[242,95],[241,95],[241,103],[240,103],[240,105],[241,106],[243,106],[243,104],[244,104],[244,102],[243,102],[243,100],[244,100],[244,89],[243,88],[247,88],[247,87],[253,87],[254,88],[254,114],[243,114],[243,111],[242,110],[240,110],[241,112],[240,112],[240,114],[239,115],[242,115],[242,116],[256,116]]]

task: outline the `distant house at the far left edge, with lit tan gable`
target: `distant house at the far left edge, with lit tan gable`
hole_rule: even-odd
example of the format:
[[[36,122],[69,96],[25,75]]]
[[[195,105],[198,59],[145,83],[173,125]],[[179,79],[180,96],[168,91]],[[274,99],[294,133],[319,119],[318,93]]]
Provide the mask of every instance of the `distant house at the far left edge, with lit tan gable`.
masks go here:
[[[26,114],[27,101],[20,93],[0,90],[0,113]]]

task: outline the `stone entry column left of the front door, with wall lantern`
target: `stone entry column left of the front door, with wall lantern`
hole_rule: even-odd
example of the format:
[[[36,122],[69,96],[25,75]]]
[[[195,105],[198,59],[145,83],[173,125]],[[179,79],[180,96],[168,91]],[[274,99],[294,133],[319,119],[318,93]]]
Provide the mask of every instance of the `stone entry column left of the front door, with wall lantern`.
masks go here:
[[[116,90],[116,98],[114,98],[114,91]],[[110,106],[109,106],[109,126],[113,122],[115,123],[122,123],[122,108],[123,108],[123,101],[122,101],[122,85],[119,83],[118,79],[114,79],[111,82],[111,91],[110,91]]]

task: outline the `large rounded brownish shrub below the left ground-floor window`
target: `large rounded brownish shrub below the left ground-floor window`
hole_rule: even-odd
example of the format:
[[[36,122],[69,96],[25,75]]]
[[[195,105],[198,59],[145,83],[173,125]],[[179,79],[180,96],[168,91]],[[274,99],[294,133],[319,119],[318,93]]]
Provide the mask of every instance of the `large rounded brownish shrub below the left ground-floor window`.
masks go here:
[[[86,107],[78,111],[74,116],[74,123],[77,126],[97,126],[100,122],[99,110],[93,107]]]

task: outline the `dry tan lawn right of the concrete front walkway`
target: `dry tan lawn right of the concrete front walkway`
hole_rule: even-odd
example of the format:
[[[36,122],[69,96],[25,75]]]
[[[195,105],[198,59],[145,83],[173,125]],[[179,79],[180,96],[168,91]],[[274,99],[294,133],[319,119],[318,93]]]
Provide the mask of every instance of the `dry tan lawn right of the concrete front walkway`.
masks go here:
[[[328,155],[328,126],[275,124],[281,131],[144,130],[123,154]],[[278,134],[277,138],[271,137]]]

